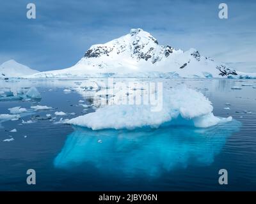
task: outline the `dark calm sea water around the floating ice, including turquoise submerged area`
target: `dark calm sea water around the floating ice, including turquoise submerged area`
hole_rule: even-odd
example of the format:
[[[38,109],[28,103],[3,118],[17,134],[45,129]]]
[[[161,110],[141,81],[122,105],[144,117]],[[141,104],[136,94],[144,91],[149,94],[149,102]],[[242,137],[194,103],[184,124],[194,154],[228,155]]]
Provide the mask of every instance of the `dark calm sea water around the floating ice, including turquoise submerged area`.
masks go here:
[[[57,116],[58,121],[95,111],[93,106],[84,110],[78,105],[79,100],[91,102],[88,91],[77,89],[81,86],[77,82],[86,80],[0,82],[2,89],[35,86],[42,95],[40,101],[0,101],[0,114],[9,113],[8,108],[14,106],[58,108],[22,117],[35,120],[32,124],[22,124],[21,119],[1,123],[0,190],[256,190],[256,81],[158,81],[165,87],[184,83],[201,91],[212,101],[214,115],[231,115],[234,120],[204,129],[169,126],[92,131],[54,124],[45,117],[47,113],[54,117],[56,111],[76,113]],[[235,85],[243,89],[232,90]],[[63,92],[67,87],[73,91]],[[16,133],[10,133],[13,128]],[[3,142],[10,135],[15,140]],[[29,186],[26,171],[31,168],[36,171],[36,185]],[[223,168],[228,171],[228,185],[221,186],[218,171]]]

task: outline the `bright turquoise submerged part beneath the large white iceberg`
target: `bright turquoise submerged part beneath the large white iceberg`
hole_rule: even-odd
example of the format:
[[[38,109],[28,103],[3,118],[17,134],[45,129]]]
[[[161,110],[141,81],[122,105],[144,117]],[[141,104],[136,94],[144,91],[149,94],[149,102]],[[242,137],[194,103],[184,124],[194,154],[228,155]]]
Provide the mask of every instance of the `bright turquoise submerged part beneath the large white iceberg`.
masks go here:
[[[238,131],[239,126],[239,122],[232,120],[204,129],[166,126],[92,131],[74,127],[54,159],[54,166],[82,168],[85,172],[86,164],[93,164],[100,173],[157,177],[163,171],[213,163],[228,136]]]

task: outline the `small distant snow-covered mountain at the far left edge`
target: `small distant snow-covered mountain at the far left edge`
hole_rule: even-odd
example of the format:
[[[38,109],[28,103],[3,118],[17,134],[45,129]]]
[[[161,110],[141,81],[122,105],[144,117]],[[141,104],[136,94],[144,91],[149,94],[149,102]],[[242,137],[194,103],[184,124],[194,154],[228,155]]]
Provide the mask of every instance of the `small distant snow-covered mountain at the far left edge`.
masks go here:
[[[39,71],[20,64],[13,59],[0,65],[0,78],[24,77],[26,75],[33,75],[38,72]]]

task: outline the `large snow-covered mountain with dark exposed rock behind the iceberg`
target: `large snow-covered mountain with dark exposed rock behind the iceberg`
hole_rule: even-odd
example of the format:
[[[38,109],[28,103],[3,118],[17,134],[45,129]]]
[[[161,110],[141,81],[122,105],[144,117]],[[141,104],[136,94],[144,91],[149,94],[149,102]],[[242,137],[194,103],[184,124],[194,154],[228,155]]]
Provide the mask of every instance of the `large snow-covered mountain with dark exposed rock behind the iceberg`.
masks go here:
[[[236,70],[202,56],[191,48],[183,52],[159,45],[142,29],[105,44],[92,45],[84,57],[67,69],[45,71],[29,77],[237,77]]]

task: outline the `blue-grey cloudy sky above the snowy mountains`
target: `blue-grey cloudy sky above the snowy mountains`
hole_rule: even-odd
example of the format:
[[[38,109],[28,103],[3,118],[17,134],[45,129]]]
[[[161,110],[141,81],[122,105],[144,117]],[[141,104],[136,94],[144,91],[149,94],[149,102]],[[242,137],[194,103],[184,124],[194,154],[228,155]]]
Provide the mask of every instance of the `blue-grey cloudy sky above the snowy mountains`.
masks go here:
[[[36,19],[26,18],[35,3]],[[228,5],[228,19],[218,5]],[[0,63],[9,59],[40,71],[76,64],[93,44],[140,27],[161,45],[188,50],[256,72],[256,1],[2,0]]]

